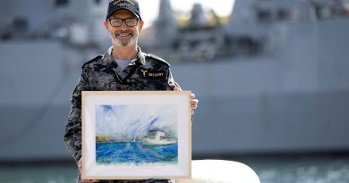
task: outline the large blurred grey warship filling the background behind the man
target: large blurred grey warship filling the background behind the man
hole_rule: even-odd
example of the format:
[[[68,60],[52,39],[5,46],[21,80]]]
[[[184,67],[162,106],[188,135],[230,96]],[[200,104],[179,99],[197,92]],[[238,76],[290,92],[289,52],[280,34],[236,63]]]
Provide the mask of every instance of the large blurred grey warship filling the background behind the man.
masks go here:
[[[0,4],[0,162],[71,160],[72,88],[110,46],[108,2]],[[162,0],[159,13],[140,46],[200,100],[194,156],[349,150],[347,0],[239,0],[227,21],[200,4],[178,20]]]

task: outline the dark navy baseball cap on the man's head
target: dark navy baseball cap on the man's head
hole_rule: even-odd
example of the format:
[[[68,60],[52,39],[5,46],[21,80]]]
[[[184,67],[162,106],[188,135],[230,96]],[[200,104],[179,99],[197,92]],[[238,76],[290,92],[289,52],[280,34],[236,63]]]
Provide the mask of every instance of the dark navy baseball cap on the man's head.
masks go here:
[[[108,12],[106,13],[106,20],[118,10],[128,10],[132,12],[137,18],[140,18],[140,5],[136,0],[114,0],[109,3]]]

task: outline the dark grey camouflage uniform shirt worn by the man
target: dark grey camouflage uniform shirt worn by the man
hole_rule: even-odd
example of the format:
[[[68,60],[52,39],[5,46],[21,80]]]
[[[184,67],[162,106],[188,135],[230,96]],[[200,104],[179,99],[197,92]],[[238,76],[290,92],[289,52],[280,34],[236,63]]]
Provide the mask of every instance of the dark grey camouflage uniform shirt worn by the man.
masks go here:
[[[174,82],[170,65],[166,61],[155,55],[142,53],[140,47],[137,49],[137,58],[119,74],[116,72],[117,63],[111,56],[112,48],[106,54],[99,55],[82,66],[79,83],[72,91],[72,109],[64,134],[65,146],[76,162],[81,158],[81,91],[174,90],[174,87],[178,86]],[[168,181],[114,180],[109,182]]]

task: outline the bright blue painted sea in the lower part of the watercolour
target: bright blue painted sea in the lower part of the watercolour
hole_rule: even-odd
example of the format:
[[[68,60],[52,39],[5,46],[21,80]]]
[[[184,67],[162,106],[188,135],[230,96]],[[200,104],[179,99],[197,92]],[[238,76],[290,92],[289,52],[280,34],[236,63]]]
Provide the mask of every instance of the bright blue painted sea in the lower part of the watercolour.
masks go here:
[[[96,162],[105,165],[176,164],[178,146],[143,146],[141,142],[97,143]]]

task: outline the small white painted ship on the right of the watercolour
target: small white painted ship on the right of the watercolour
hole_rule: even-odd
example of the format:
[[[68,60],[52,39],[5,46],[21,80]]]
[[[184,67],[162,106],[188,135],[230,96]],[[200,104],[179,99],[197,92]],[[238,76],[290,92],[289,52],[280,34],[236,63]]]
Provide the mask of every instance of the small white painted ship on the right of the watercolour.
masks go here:
[[[164,146],[173,145],[177,143],[177,140],[171,137],[166,137],[165,132],[160,130],[151,130],[147,137],[141,139],[141,144],[143,146]]]

